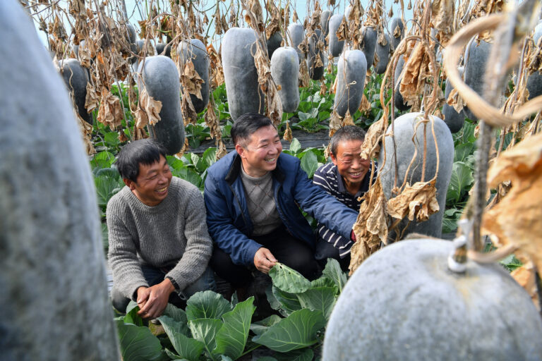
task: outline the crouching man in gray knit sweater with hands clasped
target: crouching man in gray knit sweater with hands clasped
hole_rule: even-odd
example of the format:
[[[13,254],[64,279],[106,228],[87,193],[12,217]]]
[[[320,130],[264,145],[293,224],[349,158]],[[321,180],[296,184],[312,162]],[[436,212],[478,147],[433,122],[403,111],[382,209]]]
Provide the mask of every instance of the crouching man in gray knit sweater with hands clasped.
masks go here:
[[[124,312],[136,300],[147,319],[159,317],[168,301],[179,307],[215,288],[203,197],[171,175],[165,155],[150,139],[121,149],[116,166],[126,187],[107,203],[113,306]]]

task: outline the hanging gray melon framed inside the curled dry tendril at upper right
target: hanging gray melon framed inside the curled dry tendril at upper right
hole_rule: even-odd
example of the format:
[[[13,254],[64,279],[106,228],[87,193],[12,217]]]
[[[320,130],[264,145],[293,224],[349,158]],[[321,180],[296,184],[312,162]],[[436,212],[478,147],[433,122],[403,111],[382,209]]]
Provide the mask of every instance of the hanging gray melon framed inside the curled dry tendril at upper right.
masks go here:
[[[486,76],[486,63],[490,51],[491,44],[485,40],[481,40],[478,46],[476,40],[473,40],[465,51],[465,84],[469,85],[481,97],[483,97],[483,79]],[[468,107],[465,106],[464,111],[470,119],[478,119]]]

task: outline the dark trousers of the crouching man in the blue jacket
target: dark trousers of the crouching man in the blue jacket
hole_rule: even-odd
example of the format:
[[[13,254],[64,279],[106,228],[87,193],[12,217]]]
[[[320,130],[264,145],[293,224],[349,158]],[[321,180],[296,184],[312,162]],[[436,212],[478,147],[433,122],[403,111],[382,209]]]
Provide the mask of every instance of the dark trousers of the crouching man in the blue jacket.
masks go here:
[[[307,279],[312,280],[318,276],[318,263],[311,246],[294,238],[284,226],[266,235],[255,235],[252,239],[270,250],[278,262],[295,269]],[[251,271],[255,269],[253,264],[250,268],[234,264],[231,257],[216,245],[212,250],[210,266],[234,288],[247,286],[252,281]]]

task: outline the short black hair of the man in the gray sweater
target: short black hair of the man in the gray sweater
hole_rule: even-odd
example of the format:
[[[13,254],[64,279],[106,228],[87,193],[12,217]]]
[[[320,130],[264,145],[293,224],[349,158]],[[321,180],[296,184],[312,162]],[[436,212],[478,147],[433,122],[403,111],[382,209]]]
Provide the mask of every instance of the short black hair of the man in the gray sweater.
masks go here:
[[[135,140],[122,147],[115,161],[116,169],[123,179],[135,182],[139,176],[140,164],[149,166],[159,161],[160,156],[165,158],[166,152],[163,145],[150,138]]]

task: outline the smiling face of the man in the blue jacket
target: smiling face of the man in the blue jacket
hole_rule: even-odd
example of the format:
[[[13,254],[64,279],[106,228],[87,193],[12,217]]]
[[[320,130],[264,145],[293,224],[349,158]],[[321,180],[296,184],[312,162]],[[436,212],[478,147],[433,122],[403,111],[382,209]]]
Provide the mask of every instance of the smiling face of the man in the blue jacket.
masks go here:
[[[277,167],[282,144],[277,129],[265,126],[252,133],[244,147],[238,144],[235,149],[241,156],[243,169],[248,176],[259,178]]]

